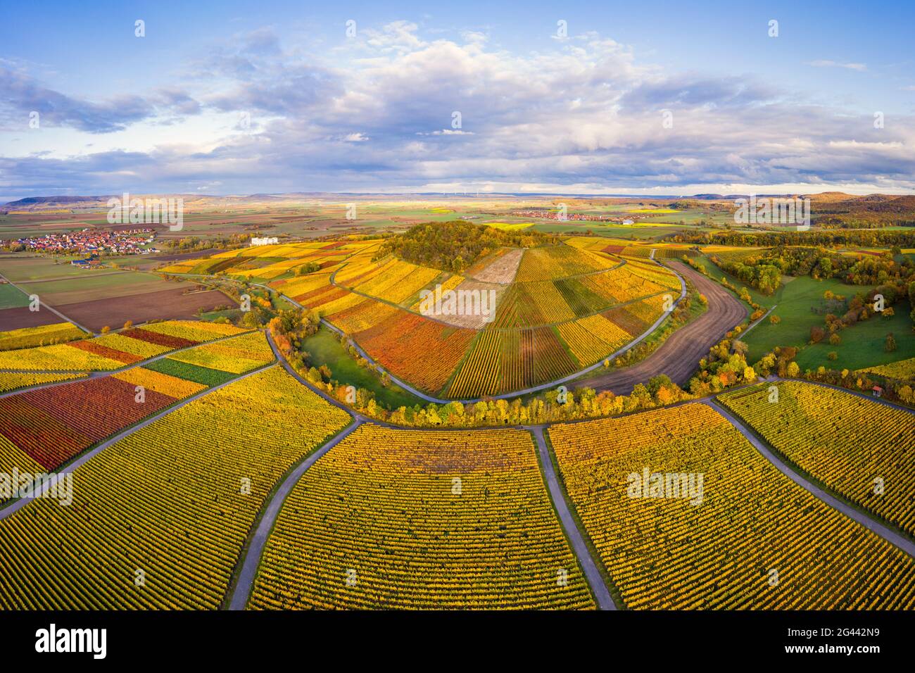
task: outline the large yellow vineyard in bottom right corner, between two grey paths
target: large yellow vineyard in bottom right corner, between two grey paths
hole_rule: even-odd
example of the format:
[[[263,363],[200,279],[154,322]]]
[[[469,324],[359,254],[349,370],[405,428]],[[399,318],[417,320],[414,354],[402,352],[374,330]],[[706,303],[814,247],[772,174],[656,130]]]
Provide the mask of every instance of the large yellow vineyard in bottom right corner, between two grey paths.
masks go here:
[[[711,407],[549,434],[567,493],[629,608],[915,607],[915,560],[793,483]],[[633,493],[630,475],[646,471],[662,486],[666,474],[702,474],[700,501]]]

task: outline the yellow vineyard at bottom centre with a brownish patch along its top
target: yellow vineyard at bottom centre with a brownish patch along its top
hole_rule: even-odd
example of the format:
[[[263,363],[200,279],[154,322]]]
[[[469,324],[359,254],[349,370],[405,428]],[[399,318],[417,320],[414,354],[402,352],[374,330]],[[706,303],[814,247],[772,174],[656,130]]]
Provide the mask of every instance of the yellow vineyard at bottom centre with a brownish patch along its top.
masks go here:
[[[522,430],[363,425],[289,495],[254,608],[593,608]]]

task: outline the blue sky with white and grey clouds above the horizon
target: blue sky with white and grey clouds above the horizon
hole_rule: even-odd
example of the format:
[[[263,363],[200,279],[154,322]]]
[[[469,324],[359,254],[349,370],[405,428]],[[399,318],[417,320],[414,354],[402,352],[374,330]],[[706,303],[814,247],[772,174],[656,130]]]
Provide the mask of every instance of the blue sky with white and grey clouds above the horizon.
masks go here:
[[[34,2],[4,16],[0,201],[915,188],[911,3]]]

